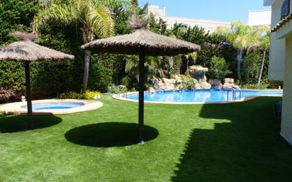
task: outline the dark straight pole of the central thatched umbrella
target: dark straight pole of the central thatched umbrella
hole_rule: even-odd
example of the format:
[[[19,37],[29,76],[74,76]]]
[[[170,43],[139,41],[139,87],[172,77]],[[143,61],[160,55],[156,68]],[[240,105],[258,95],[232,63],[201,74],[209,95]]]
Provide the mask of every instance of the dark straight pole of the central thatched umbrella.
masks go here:
[[[139,55],[139,143],[144,144],[144,75],[145,51]]]

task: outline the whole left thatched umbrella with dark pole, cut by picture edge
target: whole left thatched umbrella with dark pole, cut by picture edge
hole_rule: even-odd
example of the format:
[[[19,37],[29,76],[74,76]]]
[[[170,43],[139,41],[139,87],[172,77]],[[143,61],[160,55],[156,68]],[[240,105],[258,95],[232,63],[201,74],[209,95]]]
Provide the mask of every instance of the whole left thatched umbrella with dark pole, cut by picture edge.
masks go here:
[[[14,32],[11,33],[20,39],[20,41],[13,42],[9,45],[0,47],[0,60],[11,60],[15,62],[24,62],[26,72],[26,101],[28,106],[28,127],[33,129],[33,108],[31,104],[30,92],[30,62],[42,60],[60,60],[60,59],[74,59],[73,55],[67,55],[57,50],[52,50],[47,47],[35,44],[33,40],[37,36],[33,33]]]

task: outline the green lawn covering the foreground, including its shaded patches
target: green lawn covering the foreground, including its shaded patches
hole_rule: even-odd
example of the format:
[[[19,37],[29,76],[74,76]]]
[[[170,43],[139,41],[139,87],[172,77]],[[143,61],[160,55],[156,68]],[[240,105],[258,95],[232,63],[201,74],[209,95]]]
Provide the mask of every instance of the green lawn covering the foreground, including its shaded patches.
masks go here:
[[[145,144],[137,103],[103,98],[86,113],[0,115],[0,181],[230,181],[292,178],[292,147],[279,136],[274,103],[257,98],[216,105],[145,105]]]

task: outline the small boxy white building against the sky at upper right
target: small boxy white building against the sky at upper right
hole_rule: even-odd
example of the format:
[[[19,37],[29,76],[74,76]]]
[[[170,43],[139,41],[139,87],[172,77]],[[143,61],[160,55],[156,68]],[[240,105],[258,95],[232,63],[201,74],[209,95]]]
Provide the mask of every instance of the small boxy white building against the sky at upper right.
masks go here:
[[[247,24],[253,27],[271,25],[271,10],[249,11]]]

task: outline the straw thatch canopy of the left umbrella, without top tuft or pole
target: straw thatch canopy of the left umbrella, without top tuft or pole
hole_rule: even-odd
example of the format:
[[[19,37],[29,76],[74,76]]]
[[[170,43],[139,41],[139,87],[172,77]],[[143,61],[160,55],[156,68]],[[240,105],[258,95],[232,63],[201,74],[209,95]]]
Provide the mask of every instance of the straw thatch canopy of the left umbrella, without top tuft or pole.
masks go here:
[[[0,60],[33,62],[44,59],[74,59],[74,56],[43,47],[31,40],[21,40],[0,47]]]

